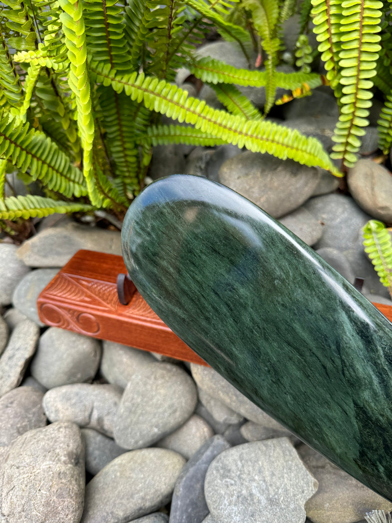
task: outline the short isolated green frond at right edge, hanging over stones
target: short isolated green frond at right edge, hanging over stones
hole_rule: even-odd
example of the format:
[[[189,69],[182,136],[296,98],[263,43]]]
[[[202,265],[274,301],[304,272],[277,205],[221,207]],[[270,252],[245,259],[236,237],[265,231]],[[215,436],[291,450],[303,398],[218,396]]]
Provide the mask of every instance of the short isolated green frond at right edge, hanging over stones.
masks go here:
[[[372,260],[374,269],[392,297],[392,242],[384,223],[369,220],[362,229],[365,252]]]

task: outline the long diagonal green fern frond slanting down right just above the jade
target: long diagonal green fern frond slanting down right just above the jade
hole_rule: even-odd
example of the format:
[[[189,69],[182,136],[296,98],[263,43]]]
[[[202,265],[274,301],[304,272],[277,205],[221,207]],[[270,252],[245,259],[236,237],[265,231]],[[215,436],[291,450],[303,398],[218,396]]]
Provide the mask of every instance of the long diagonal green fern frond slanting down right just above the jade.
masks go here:
[[[245,146],[250,151],[268,152],[283,159],[292,158],[308,166],[317,165],[330,170],[332,174],[340,175],[321,143],[296,130],[270,121],[246,120],[226,111],[213,109],[205,105],[204,101],[188,97],[188,93],[176,85],[146,77],[143,73],[119,76],[95,62],[90,64],[90,70],[97,75],[98,82],[112,85],[118,93],[124,90],[132,100],[143,103],[147,109],[179,122],[191,123],[195,128],[225,142],[238,147]]]

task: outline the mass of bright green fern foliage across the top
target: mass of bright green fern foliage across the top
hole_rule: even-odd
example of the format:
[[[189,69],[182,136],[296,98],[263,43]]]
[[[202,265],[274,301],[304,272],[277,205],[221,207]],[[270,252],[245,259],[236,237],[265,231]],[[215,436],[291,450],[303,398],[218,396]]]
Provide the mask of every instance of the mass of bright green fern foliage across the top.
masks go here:
[[[159,144],[232,143],[339,176],[315,138],[266,118],[274,105],[324,83],[340,107],[332,158],[341,158],[343,171],[356,161],[374,85],[385,96],[378,129],[386,154],[392,144],[390,12],[386,0],[4,0],[0,220],[88,205],[121,217],[143,187]],[[301,27],[289,50],[296,70],[283,73],[282,26],[297,13]],[[309,45],[311,22],[317,50]],[[212,28],[243,52],[247,69],[195,53]],[[312,70],[317,53],[326,77]],[[181,67],[209,84],[225,109],[179,88]],[[265,90],[263,108],[244,95],[244,86]],[[278,88],[289,93],[277,100]],[[172,123],[160,123],[161,115]],[[41,186],[41,199],[4,197],[12,169]]]

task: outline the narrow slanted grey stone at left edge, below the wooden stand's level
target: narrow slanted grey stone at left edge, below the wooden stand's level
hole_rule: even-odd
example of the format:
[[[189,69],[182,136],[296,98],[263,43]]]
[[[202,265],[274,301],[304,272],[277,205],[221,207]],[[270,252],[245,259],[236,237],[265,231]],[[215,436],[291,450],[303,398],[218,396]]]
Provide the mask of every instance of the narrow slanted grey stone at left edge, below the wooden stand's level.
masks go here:
[[[38,326],[30,320],[19,323],[0,356],[0,397],[15,389],[25,376],[29,361],[36,350]]]

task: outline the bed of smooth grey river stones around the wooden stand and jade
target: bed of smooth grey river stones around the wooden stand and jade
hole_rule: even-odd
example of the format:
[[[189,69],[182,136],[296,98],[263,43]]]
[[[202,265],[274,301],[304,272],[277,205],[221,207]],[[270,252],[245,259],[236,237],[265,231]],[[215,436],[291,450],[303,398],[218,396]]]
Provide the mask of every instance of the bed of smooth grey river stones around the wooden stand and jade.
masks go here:
[[[244,67],[227,45],[206,47]],[[336,103],[325,89],[313,96],[284,108],[285,124],[330,149]],[[369,128],[364,151],[375,136]],[[318,169],[231,145],[156,147],[150,176],[175,172],[237,190],[392,304],[361,240],[367,220],[392,221],[382,166],[361,160],[344,196]],[[36,300],[59,267],[79,248],[121,254],[120,234],[58,217],[38,231],[19,248],[0,243],[0,520],[353,523],[392,510],[212,369],[45,328]]]

